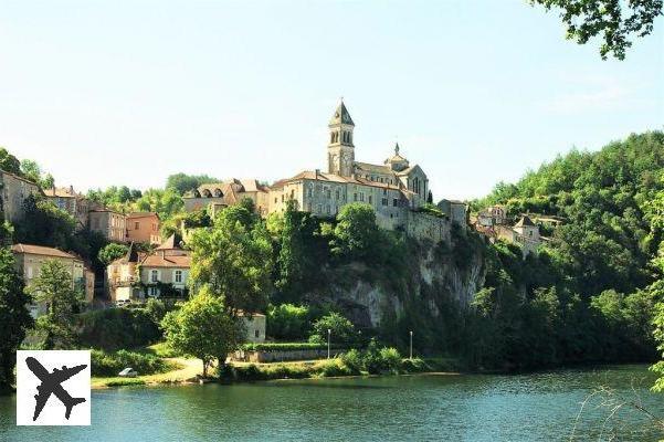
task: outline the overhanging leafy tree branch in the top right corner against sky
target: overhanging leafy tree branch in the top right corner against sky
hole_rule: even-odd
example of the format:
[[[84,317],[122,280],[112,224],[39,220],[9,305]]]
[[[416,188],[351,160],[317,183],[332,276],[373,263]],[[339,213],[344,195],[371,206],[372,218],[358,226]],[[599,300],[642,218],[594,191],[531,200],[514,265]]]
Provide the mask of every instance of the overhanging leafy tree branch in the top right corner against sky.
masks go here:
[[[624,60],[625,50],[632,46],[632,36],[645,36],[653,31],[653,23],[662,15],[662,0],[530,0],[547,10],[560,10],[567,27],[567,39],[586,44],[601,35],[600,55],[607,60],[612,54]]]

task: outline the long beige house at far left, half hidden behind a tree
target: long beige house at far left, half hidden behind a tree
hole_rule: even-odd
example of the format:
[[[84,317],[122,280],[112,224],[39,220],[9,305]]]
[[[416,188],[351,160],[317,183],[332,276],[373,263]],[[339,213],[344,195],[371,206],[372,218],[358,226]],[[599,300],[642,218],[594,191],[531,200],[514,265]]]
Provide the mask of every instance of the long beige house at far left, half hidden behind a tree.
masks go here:
[[[55,260],[63,263],[71,273],[72,288],[82,291],[87,302],[93,301],[95,275],[81,257],[57,249],[32,244],[14,244],[11,251],[14,254],[17,271],[23,277],[27,287],[39,276],[44,262]],[[44,313],[45,305],[34,304],[30,307],[30,314],[35,318]]]

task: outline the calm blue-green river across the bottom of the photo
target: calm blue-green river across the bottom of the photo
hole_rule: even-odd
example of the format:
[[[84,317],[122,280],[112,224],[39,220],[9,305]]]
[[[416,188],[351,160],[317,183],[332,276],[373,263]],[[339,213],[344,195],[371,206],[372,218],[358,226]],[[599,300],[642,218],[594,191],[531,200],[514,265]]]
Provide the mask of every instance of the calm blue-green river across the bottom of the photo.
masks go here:
[[[496,375],[307,379],[95,390],[92,427],[15,427],[15,397],[0,397],[2,441],[568,441],[593,389],[664,415],[645,366]],[[51,399],[53,400],[53,399]],[[642,412],[593,397],[576,439],[657,440]],[[604,424],[605,422],[605,424]]]

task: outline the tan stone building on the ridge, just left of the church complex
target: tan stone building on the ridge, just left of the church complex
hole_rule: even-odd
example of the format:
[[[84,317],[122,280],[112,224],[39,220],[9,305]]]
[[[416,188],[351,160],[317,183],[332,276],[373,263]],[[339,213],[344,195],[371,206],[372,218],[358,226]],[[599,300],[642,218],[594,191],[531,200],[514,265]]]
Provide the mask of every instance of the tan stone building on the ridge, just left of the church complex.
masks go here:
[[[187,192],[182,200],[188,212],[207,209],[214,218],[214,212],[224,207],[238,204],[243,198],[251,199],[256,212],[267,214],[267,193],[270,188],[255,179],[236,179],[201,185],[198,189]]]

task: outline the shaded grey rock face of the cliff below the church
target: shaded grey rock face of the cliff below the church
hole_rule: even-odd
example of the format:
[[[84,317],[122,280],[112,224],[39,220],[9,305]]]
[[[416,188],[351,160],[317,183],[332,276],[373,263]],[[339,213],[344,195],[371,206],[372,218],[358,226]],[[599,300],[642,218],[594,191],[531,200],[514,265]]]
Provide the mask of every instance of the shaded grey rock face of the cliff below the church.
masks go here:
[[[484,284],[482,250],[467,245],[459,253],[463,246],[454,239],[451,244],[443,241],[436,245],[411,240],[400,256],[403,269],[371,269],[360,263],[327,269],[324,273],[329,283],[307,298],[337,305],[361,328],[379,327],[386,318],[399,318],[414,309],[420,317],[435,320],[445,306],[467,308]]]

